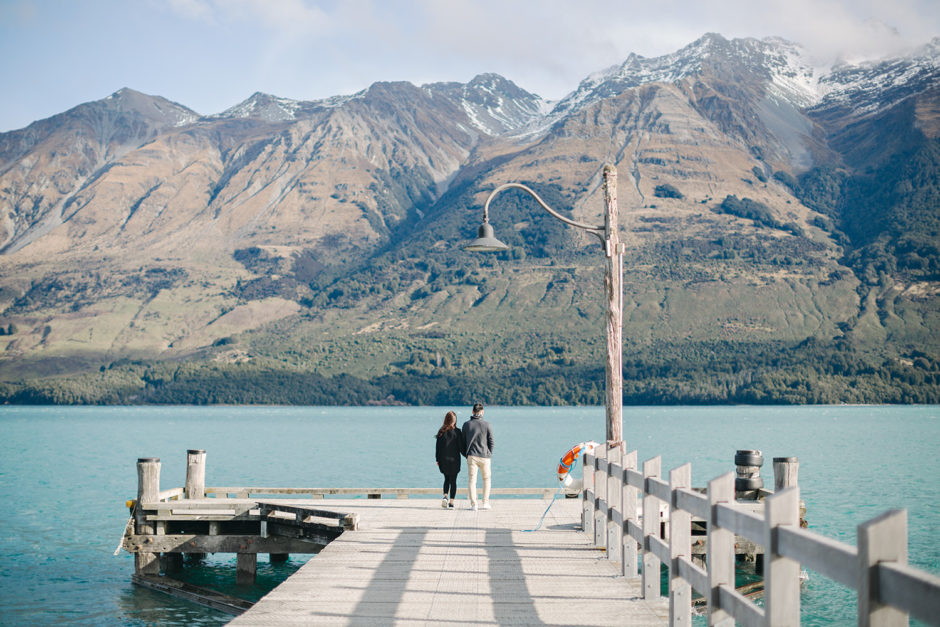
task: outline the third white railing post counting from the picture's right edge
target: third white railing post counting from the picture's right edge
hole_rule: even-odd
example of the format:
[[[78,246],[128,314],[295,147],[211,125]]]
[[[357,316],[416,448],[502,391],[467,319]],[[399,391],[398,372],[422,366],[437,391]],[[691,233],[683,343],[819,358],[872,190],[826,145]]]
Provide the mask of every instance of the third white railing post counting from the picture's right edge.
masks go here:
[[[718,505],[734,503],[734,473],[708,482],[708,624],[733,627],[734,619],[721,609],[720,586],[734,588],[734,532],[718,526]]]

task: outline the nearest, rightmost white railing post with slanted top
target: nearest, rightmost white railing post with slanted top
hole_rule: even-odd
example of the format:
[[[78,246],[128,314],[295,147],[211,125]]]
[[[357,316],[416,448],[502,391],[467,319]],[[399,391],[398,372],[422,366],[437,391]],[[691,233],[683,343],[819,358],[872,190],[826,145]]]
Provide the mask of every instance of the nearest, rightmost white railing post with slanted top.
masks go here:
[[[906,626],[905,612],[879,600],[881,562],[907,564],[907,510],[891,510],[858,526],[859,627]]]

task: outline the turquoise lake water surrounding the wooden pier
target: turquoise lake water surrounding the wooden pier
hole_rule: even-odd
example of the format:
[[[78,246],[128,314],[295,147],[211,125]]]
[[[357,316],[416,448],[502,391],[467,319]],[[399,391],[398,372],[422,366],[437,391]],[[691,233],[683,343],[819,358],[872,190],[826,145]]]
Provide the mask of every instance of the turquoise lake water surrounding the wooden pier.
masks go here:
[[[138,457],[161,458],[163,489],[182,486],[190,448],[207,451],[209,486],[438,487],[433,435],[444,411],[2,407],[0,624],[224,624],[225,614],[131,585],[132,557],[112,555]],[[558,458],[605,432],[602,407],[490,407],[486,417],[501,487],[555,487]],[[695,486],[733,470],[737,449],[763,451],[769,486],[771,458],[799,457],[812,530],[854,546],[859,523],[905,508],[910,562],[940,574],[938,406],[627,407],[624,439],[641,461],[661,455],[664,470],[691,462]],[[259,584],[239,592],[263,594],[307,559],[262,557]],[[234,558],[212,557],[190,576],[231,587]],[[855,624],[854,604],[854,592],[811,572],[803,625]]]

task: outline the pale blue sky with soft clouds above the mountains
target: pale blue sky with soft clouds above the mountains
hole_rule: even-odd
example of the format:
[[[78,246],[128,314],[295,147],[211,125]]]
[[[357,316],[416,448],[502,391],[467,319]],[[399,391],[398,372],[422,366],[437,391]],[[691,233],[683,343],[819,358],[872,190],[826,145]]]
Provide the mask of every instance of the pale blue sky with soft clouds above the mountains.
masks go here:
[[[219,113],[496,72],[552,100],[630,53],[779,36],[820,66],[940,36],[937,0],[0,0],[0,132],[122,87]]]

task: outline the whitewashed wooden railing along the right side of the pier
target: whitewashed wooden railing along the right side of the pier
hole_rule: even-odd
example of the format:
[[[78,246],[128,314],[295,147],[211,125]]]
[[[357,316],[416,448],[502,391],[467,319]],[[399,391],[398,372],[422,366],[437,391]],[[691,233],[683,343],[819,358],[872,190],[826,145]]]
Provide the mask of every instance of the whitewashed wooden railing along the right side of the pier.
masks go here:
[[[702,494],[691,489],[690,464],[668,480],[661,466],[654,457],[638,469],[637,452],[619,447],[585,455],[582,524],[608,559],[621,562],[624,577],[638,576],[642,551],[645,598],[661,596],[660,565],[668,566],[670,624],[691,624],[695,590],[706,599],[709,625],[799,625],[805,567],[858,591],[859,625],[907,624],[908,615],[940,625],[940,577],[907,565],[906,510],[859,525],[856,548],[800,527],[796,486],[769,496],[758,516],[735,501],[734,473],[713,479]],[[707,525],[705,568],[692,560],[693,517]],[[735,536],[764,549],[763,607],[735,590]]]

